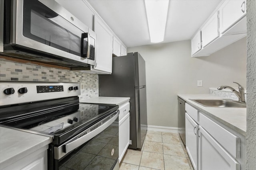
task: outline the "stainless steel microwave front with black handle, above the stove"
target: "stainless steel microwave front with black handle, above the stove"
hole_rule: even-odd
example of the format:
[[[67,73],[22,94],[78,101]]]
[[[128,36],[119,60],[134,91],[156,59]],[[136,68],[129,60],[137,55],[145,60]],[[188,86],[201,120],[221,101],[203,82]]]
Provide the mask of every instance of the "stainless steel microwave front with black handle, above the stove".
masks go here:
[[[10,44],[95,65],[95,33],[56,1],[14,0],[12,8]]]

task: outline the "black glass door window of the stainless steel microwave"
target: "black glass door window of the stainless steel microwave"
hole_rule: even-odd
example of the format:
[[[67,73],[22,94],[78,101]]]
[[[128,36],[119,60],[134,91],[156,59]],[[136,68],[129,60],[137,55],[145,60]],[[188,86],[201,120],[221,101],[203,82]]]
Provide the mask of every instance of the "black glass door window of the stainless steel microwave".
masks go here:
[[[23,35],[56,49],[81,55],[84,33],[69,21],[37,0],[24,0]],[[83,43],[84,46],[87,43]],[[87,47],[82,47],[86,49]]]

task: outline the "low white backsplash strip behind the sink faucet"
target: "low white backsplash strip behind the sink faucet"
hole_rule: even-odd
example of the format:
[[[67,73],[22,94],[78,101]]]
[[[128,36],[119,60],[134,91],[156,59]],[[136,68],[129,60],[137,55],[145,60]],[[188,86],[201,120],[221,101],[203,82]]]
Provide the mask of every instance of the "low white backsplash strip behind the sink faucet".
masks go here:
[[[236,90],[238,90],[238,88],[234,88]],[[210,94],[213,94],[215,96],[219,96],[221,98],[225,98],[225,99],[232,99],[232,100],[238,100],[238,97],[236,96],[236,94],[234,94],[234,92],[232,92],[231,90],[225,89],[225,90],[218,90],[217,88],[210,88]],[[245,100],[246,100],[246,90],[245,90]]]

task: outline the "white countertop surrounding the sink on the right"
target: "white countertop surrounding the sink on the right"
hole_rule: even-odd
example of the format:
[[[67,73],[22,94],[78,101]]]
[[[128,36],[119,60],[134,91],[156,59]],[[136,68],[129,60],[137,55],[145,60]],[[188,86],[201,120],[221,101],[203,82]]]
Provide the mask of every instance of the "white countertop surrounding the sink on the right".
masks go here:
[[[204,107],[190,99],[221,99],[212,94],[179,94],[180,98],[185,100],[191,106],[199,111],[213,117],[231,129],[246,135],[246,108],[237,107]]]

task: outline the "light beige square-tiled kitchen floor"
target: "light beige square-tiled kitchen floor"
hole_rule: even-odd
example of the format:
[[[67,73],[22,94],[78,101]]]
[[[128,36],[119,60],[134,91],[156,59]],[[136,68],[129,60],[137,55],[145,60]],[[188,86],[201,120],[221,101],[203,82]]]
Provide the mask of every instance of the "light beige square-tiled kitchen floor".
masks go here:
[[[126,150],[120,170],[194,169],[178,133],[147,131],[141,150]]]

